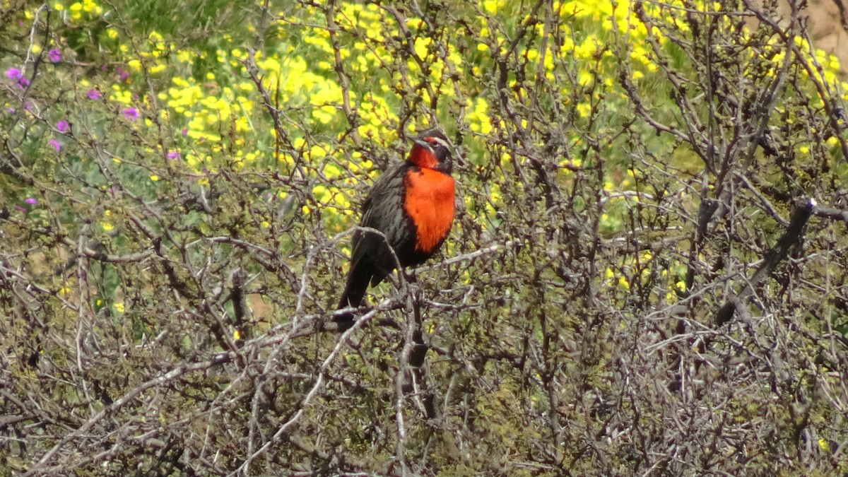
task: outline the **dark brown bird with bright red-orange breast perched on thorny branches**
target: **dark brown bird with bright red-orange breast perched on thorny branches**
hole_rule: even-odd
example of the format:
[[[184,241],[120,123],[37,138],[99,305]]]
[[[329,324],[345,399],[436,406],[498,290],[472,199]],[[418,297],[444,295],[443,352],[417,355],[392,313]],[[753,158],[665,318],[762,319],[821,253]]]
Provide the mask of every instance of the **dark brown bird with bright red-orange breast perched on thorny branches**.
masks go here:
[[[442,132],[421,132],[409,157],[383,173],[362,206],[361,227],[354,233],[348,283],[338,308],[360,306],[365,289],[382,282],[396,267],[415,267],[435,254],[454,222],[455,185],[448,138]],[[343,332],[354,314],[333,317]]]

